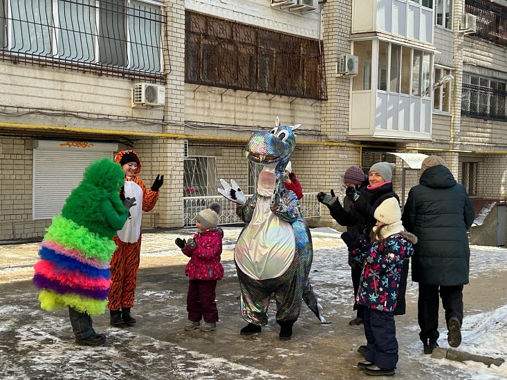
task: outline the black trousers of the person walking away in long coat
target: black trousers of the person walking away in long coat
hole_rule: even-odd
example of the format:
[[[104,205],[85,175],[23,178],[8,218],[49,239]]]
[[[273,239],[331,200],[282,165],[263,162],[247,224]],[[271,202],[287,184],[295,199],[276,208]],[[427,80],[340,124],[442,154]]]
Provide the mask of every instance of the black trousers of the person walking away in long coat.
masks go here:
[[[428,339],[436,342],[439,339],[439,292],[445,310],[445,323],[453,316],[463,323],[463,285],[441,286],[419,284],[417,302],[417,321],[421,332],[419,337],[423,343]]]

